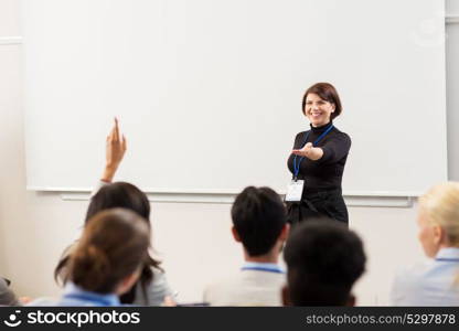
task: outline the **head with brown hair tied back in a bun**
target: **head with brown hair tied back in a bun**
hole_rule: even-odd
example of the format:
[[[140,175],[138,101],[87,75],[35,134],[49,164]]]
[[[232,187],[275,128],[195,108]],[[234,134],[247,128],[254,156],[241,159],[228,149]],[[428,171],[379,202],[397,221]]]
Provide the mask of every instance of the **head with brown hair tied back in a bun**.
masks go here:
[[[68,278],[87,291],[121,295],[136,282],[148,256],[150,228],[122,209],[90,218],[70,255]]]

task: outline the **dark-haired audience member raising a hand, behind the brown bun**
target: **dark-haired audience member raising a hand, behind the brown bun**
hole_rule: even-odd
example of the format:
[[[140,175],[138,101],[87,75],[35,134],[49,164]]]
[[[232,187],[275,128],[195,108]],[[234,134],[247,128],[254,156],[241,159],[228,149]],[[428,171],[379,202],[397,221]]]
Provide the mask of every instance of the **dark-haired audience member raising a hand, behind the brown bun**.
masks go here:
[[[126,182],[111,183],[113,178],[122,160],[126,151],[126,139],[119,136],[118,121],[115,120],[114,128],[107,137],[106,149],[106,167],[97,188],[97,191],[92,196],[89,206],[86,213],[85,225],[88,220],[100,211],[122,207],[136,212],[147,223],[150,224],[150,202],[147,195],[137,186]],[[63,282],[67,280],[66,265],[68,263],[68,254],[73,246],[70,246],[64,252],[63,257],[58,261],[54,276]],[[160,267],[160,261],[156,260],[150,255],[143,261],[143,268],[139,281],[120,299],[121,303],[132,303],[137,306],[161,306],[167,297],[172,296],[164,273]]]

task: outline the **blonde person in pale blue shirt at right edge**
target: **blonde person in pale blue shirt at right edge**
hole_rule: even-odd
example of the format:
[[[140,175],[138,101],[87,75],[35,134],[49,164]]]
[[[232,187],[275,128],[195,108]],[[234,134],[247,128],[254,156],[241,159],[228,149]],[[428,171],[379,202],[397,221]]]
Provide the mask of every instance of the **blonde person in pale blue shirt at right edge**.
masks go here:
[[[459,183],[434,186],[419,197],[418,239],[429,260],[395,278],[394,306],[459,306]]]

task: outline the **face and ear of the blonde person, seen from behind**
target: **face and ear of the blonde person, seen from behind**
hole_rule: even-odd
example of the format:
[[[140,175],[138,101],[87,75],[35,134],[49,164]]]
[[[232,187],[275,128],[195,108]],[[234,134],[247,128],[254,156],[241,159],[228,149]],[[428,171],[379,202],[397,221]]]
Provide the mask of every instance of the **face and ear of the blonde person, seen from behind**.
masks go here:
[[[423,245],[424,253],[428,257],[435,257],[440,249],[441,231],[438,225],[429,222],[427,213],[419,209],[417,215],[418,239]]]

